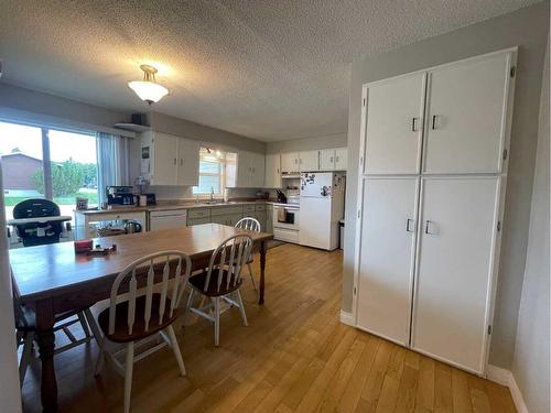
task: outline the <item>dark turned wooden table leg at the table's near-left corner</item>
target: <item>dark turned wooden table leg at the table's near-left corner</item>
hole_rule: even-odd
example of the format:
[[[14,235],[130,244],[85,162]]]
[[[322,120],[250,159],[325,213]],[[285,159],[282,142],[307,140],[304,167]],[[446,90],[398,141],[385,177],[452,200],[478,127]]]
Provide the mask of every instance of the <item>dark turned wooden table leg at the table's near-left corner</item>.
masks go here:
[[[54,368],[54,312],[51,300],[36,303],[36,341],[42,365],[41,401],[43,412],[57,411],[57,382]]]

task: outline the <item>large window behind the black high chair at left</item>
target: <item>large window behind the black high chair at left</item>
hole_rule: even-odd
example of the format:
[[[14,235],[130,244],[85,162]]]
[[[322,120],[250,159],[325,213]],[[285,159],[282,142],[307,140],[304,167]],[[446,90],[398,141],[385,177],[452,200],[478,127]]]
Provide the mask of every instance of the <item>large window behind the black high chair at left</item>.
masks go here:
[[[7,219],[17,204],[31,198],[51,199],[68,216],[76,197],[98,203],[91,133],[0,122],[0,156]]]

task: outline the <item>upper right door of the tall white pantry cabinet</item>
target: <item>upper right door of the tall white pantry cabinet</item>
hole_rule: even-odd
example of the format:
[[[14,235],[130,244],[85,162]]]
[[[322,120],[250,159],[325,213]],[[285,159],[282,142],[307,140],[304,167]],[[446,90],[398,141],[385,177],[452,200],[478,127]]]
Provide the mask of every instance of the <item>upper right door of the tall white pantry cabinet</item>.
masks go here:
[[[430,73],[424,172],[500,171],[509,69],[498,54]]]

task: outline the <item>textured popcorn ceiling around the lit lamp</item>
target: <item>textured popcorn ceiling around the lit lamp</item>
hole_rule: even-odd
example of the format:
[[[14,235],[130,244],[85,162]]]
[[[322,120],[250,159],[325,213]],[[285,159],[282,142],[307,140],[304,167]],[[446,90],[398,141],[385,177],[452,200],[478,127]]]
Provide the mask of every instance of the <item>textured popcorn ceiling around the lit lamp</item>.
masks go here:
[[[2,81],[270,141],[347,129],[349,63],[533,0],[0,0]],[[1,98],[0,98],[1,99]]]

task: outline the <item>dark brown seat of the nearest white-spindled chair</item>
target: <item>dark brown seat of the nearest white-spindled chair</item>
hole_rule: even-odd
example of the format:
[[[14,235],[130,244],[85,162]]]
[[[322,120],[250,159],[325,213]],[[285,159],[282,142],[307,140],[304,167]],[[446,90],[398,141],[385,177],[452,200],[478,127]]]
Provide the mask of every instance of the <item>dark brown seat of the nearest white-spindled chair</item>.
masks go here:
[[[149,337],[172,324],[179,316],[174,311],[172,317],[170,316],[171,302],[166,298],[164,305],[164,315],[161,323],[159,323],[159,313],[156,309],[161,307],[161,294],[153,294],[151,300],[151,318],[149,319],[149,327],[145,330],[145,295],[136,298],[136,316],[132,327],[132,334],[128,334],[128,301],[117,304],[115,315],[115,333],[109,334],[109,308],[104,309],[98,315],[98,324],[105,336],[115,343],[129,343]]]

